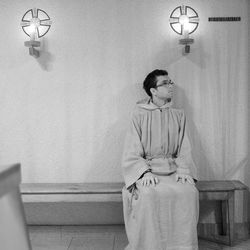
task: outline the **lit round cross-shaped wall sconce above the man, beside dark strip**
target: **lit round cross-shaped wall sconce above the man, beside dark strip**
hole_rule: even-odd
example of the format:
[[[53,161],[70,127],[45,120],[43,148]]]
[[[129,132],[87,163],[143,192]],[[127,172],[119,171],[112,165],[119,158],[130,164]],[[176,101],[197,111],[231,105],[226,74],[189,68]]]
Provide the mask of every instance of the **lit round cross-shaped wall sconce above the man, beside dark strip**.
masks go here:
[[[180,44],[185,45],[185,53],[190,52],[190,44],[194,42],[194,39],[190,38],[199,25],[199,16],[197,12],[190,6],[178,6],[170,15],[170,26],[174,32],[182,35],[182,39],[179,40]]]

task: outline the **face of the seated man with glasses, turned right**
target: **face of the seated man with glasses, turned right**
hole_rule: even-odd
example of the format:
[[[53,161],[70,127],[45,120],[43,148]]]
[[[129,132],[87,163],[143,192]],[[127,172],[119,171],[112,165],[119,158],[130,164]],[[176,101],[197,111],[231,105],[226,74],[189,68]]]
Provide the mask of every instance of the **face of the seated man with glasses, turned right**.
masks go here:
[[[159,99],[167,100],[173,97],[173,82],[169,76],[157,76],[156,88],[153,90],[153,95]]]

